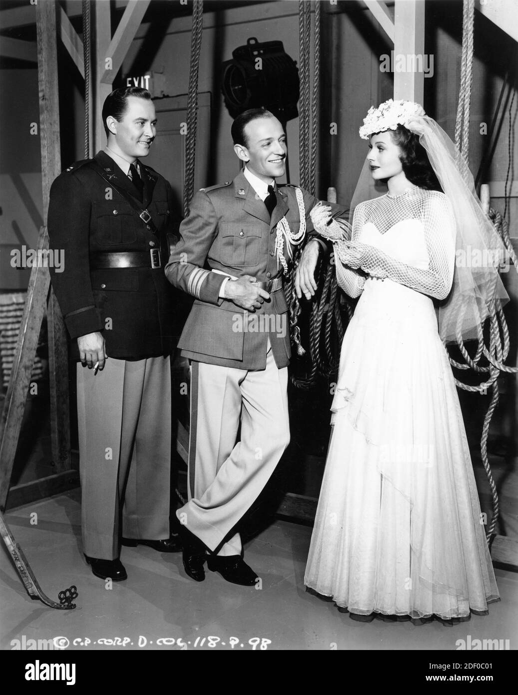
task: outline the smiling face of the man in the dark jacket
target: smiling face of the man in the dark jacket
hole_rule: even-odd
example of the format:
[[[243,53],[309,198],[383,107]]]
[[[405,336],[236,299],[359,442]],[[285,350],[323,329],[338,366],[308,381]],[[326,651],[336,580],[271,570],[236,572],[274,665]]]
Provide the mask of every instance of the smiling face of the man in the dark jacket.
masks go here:
[[[108,127],[110,127],[110,121]],[[110,149],[128,161],[147,157],[156,136],[156,113],[153,101],[128,97],[128,105],[120,121],[111,122]],[[115,131],[115,132],[114,132]]]

